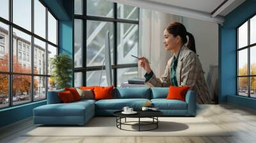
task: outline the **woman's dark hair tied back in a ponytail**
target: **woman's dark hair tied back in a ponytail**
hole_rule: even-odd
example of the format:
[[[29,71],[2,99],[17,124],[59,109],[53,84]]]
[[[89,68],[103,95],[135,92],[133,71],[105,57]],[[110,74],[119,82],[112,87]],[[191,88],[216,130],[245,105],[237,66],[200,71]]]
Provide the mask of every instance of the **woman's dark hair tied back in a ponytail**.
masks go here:
[[[179,22],[172,22],[168,27],[166,27],[166,30],[175,37],[179,35],[183,44],[187,43],[188,36],[188,48],[196,53],[195,38],[193,34],[187,32],[186,27],[183,24],[180,24]]]

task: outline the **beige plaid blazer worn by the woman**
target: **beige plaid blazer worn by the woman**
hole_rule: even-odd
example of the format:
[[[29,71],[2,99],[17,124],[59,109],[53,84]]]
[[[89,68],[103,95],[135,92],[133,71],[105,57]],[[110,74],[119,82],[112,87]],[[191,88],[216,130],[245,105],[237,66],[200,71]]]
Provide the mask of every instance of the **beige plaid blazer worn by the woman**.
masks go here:
[[[173,54],[174,56],[174,54]],[[170,66],[172,66],[173,56],[169,59],[164,74],[157,78],[153,75],[145,84],[149,87],[169,87],[170,83]],[[209,90],[205,82],[204,70],[199,58],[195,52],[189,50],[186,45],[180,49],[176,77],[179,86],[189,86],[197,94],[197,103],[210,103]]]

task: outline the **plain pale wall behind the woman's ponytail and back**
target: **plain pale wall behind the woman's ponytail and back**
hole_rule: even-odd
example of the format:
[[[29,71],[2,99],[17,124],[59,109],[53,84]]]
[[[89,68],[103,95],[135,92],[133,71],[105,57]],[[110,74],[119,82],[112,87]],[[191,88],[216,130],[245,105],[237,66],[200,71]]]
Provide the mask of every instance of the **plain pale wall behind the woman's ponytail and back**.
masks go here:
[[[182,23],[195,37],[196,53],[206,77],[209,66],[218,64],[218,24],[188,17],[182,17]]]

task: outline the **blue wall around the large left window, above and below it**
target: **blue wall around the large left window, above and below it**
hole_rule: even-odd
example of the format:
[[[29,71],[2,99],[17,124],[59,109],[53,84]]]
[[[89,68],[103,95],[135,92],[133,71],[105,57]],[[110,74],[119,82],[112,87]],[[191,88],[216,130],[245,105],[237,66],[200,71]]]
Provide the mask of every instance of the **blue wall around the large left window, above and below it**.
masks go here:
[[[51,9],[59,20],[59,52],[66,53],[72,57],[73,47],[73,18],[74,2],[67,0],[43,0],[45,4]],[[72,81],[70,81],[72,84]],[[22,119],[33,116],[33,109],[35,107],[45,105],[46,100],[41,102],[28,103],[25,105],[18,105],[8,109],[0,110],[0,127],[15,123]]]

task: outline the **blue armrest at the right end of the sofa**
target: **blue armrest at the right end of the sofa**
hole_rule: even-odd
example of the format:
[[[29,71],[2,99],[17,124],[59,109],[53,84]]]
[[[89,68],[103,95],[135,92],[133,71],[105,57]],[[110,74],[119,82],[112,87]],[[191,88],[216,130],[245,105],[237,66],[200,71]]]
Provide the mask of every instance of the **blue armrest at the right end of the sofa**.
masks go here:
[[[188,115],[196,115],[196,93],[195,91],[188,91],[186,94],[186,103],[188,103]]]

